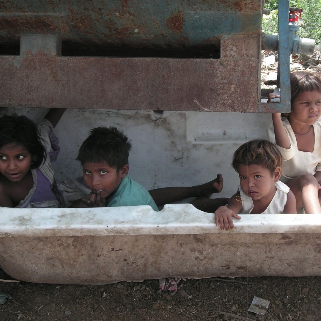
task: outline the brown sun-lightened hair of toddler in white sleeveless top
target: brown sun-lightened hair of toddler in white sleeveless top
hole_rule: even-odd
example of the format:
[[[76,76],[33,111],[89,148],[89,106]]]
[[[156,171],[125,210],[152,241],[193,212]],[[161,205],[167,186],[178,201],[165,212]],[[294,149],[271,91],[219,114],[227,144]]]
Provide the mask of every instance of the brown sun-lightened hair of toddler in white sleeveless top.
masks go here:
[[[263,165],[273,174],[276,167],[282,169],[283,158],[276,146],[266,139],[254,139],[241,145],[233,155],[232,167],[239,165]]]

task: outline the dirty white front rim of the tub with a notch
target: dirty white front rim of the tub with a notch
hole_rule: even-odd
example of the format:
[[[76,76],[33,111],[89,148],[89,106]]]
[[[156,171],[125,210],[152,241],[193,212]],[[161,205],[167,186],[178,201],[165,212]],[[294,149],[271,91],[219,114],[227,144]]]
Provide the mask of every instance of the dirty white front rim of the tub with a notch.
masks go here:
[[[159,235],[206,233],[321,233],[320,214],[243,215],[233,230],[221,230],[214,214],[192,204],[105,208],[17,209],[0,207],[0,237]],[[108,218],[112,218],[109,220]]]

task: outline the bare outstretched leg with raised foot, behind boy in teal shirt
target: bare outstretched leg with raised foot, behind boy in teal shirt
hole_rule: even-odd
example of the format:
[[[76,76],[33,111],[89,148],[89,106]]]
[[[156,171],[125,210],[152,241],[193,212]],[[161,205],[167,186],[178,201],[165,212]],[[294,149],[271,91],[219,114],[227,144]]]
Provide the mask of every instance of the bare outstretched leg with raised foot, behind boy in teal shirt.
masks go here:
[[[188,197],[211,197],[213,193],[221,192],[223,188],[223,177],[218,174],[212,181],[191,187],[163,187],[152,189],[149,194],[157,206],[177,202]]]

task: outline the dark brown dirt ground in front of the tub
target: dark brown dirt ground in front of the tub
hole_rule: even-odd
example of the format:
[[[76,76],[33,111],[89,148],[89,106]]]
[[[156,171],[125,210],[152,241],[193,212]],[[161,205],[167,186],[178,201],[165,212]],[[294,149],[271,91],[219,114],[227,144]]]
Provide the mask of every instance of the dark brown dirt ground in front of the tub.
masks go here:
[[[0,279],[10,277],[0,270]],[[321,320],[320,277],[186,279],[159,293],[158,280],[105,285],[0,282],[1,321]],[[270,301],[265,315],[248,312],[253,297]]]

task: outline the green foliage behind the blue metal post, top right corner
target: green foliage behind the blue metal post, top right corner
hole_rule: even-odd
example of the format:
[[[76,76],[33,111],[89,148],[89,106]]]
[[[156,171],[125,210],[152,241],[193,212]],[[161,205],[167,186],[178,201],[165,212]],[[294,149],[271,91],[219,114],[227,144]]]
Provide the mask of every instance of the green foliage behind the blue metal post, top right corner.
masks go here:
[[[271,10],[268,19],[264,18],[262,21],[262,30],[266,33],[278,32],[277,6],[277,0],[265,1],[264,7]],[[301,19],[298,21],[299,37],[315,39],[317,44],[321,43],[321,0],[290,1],[290,6],[303,9]]]

